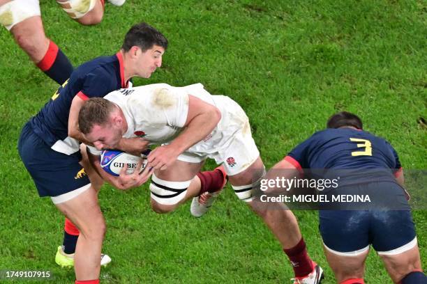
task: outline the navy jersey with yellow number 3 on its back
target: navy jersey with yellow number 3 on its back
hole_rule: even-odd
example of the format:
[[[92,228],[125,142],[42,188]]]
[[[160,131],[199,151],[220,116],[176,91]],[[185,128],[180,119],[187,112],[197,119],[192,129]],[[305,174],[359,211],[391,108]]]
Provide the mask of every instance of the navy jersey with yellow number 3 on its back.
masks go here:
[[[397,152],[387,141],[348,127],[316,132],[297,145],[285,159],[299,170],[336,169],[336,173],[351,173],[351,177],[350,174],[347,178],[341,177],[341,185],[395,182],[392,173],[398,175],[401,169]]]

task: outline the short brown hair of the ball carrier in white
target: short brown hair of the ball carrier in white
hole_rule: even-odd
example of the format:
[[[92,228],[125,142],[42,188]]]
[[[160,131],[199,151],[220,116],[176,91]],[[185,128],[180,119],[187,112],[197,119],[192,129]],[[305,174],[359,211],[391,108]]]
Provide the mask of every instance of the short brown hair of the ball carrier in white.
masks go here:
[[[93,125],[105,125],[115,104],[102,97],[91,97],[79,112],[79,129],[83,134],[91,132]]]

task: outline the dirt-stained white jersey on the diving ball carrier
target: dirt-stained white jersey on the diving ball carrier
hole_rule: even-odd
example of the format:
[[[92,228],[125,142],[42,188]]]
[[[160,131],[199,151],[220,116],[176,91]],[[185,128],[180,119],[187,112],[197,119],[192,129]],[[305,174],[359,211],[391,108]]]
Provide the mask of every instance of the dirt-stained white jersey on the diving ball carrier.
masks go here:
[[[179,135],[187,119],[188,95],[216,106],[222,116],[211,134],[188,149],[189,152],[216,152],[227,146],[234,132],[248,126],[248,117],[239,104],[223,95],[211,95],[202,84],[184,87],[151,84],[115,90],[104,98],[123,111],[128,123],[124,138],[140,136],[153,145],[168,143]],[[248,131],[250,134],[250,128]],[[99,153],[93,148],[91,152]]]

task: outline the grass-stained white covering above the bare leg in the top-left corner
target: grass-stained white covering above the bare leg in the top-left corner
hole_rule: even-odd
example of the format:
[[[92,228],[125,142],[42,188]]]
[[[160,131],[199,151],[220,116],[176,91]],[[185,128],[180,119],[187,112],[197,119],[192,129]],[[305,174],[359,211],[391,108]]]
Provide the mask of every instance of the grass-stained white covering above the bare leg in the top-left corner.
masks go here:
[[[38,0],[14,0],[0,6],[0,24],[8,31],[29,17],[40,16]]]

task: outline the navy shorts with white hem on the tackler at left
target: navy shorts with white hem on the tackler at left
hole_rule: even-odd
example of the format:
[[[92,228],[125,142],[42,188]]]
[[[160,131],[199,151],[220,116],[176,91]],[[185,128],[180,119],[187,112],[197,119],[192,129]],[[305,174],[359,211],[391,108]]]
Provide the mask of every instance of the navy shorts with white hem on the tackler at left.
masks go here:
[[[66,155],[52,150],[33,132],[29,123],[22,129],[18,151],[40,197],[59,196],[90,184],[79,164],[80,151]]]

